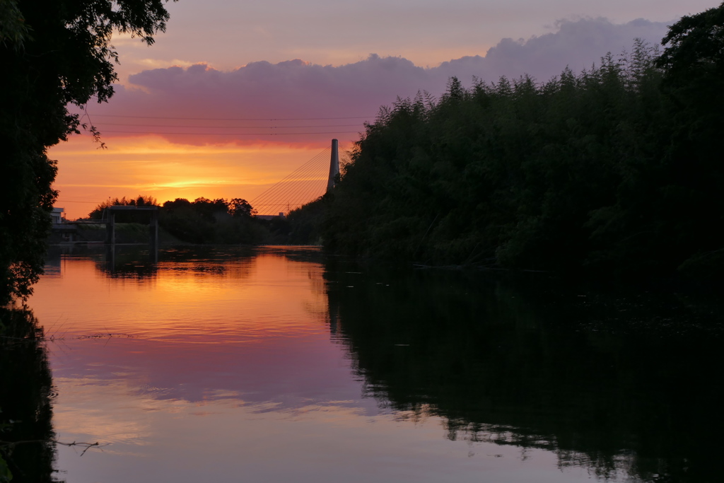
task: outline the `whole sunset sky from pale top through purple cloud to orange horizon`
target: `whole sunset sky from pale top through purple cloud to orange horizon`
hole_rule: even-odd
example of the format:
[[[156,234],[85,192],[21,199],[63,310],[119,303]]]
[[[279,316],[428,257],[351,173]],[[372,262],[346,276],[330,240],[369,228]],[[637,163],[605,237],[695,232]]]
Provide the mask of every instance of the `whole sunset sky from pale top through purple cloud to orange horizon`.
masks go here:
[[[148,47],[114,37],[121,64],[108,104],[90,104],[107,149],[75,135],[59,161],[69,219],[109,197],[251,201],[397,96],[439,96],[447,79],[548,80],[600,56],[658,43],[689,0],[265,0],[168,4]]]

